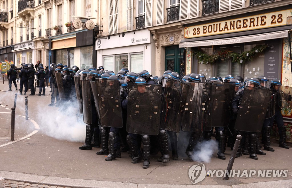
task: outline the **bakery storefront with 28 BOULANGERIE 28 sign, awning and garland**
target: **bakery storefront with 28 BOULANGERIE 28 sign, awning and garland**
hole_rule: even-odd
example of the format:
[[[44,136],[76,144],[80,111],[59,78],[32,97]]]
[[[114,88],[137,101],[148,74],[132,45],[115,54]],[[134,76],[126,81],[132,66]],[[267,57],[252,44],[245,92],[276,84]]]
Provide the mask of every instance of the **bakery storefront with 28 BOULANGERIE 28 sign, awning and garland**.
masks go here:
[[[180,47],[187,49],[186,73],[223,79],[230,74],[243,78],[265,75],[291,87],[291,28],[292,9],[287,7],[185,25]],[[287,140],[292,141],[291,109],[283,109],[282,114],[289,132]]]

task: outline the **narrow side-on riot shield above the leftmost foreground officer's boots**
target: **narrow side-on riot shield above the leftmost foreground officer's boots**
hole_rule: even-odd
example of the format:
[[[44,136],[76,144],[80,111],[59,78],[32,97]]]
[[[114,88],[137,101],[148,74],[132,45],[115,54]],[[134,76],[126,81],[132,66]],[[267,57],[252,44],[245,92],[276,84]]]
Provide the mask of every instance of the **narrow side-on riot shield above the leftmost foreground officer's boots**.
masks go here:
[[[92,123],[92,105],[89,80],[81,80],[82,85],[82,103],[83,103],[83,122]],[[94,107],[93,107],[94,108]]]

